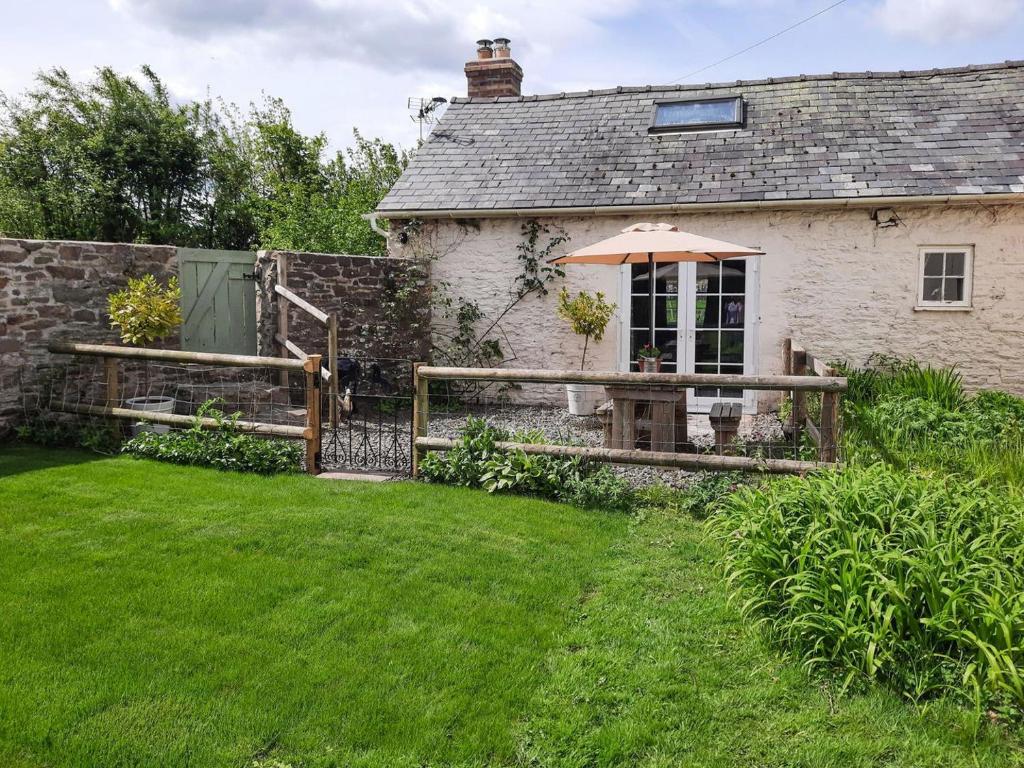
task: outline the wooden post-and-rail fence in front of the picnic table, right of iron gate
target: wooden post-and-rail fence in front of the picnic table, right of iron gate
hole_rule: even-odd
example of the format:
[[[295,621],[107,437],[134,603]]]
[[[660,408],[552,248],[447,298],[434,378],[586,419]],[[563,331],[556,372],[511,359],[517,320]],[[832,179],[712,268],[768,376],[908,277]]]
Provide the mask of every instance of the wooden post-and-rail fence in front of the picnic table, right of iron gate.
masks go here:
[[[428,436],[429,386],[431,381],[486,381],[514,384],[596,384],[605,387],[730,387],[792,392],[795,400],[806,403],[808,392],[821,393],[821,424],[815,426],[804,415],[808,429],[814,428],[819,446],[818,461],[796,459],[759,459],[743,456],[715,456],[667,451],[589,447],[543,443],[500,442],[498,447],[525,454],[581,457],[611,464],[646,464],[691,470],[743,470],[802,474],[838,459],[839,397],[846,391],[847,380],[837,376],[734,376],[731,374],[652,374],[584,371],[547,371],[501,368],[436,368],[416,364],[413,368],[416,390],[413,400],[413,475],[419,473],[420,461],[427,451],[451,451],[458,440]],[[638,398],[639,399],[639,398]],[[804,406],[801,406],[804,408]],[[795,406],[796,408],[796,406]]]

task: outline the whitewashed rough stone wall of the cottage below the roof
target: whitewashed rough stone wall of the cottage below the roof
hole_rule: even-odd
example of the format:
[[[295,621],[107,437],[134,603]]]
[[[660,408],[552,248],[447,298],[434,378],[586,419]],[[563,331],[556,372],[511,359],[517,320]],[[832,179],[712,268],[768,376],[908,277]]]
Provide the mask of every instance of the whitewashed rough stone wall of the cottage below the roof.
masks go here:
[[[1024,393],[1024,206],[895,207],[902,224],[879,228],[868,210],[751,211],[658,216],[681,229],[756,246],[761,257],[758,373],[781,372],[782,339],[793,336],[815,355],[862,364],[872,352],[955,365],[972,387]],[[564,218],[571,241],[588,245],[618,232],[635,217]],[[494,313],[518,273],[522,221],[480,219],[463,230],[428,225],[396,255],[434,251],[432,281],[479,301]],[[437,227],[431,230],[431,226]],[[418,243],[418,245],[417,245]],[[432,245],[431,245],[432,244]],[[970,311],[915,311],[919,249],[973,245]],[[601,290],[618,301],[616,267],[569,265],[570,291]],[[557,289],[530,297],[502,324],[506,353],[517,367],[573,368],[582,341],[555,313]],[[621,333],[609,327],[588,368],[613,370]]]

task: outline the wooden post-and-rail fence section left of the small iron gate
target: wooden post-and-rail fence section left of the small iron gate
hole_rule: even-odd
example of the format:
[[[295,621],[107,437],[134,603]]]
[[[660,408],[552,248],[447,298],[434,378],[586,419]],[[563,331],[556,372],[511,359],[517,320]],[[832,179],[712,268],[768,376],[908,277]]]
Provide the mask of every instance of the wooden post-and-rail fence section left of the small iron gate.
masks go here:
[[[184,365],[224,366],[229,368],[268,368],[289,373],[301,374],[305,386],[305,425],[267,424],[255,421],[239,421],[236,427],[253,434],[274,435],[298,438],[305,442],[306,471],[319,472],[321,445],[321,355],[310,354],[305,359],[284,359],[281,357],[258,357],[248,354],[219,354],[216,352],[185,352],[177,349],[148,349],[144,347],[120,347],[106,344],[77,344],[74,342],[51,342],[47,349],[55,354],[86,355],[101,357],[106,379],[105,402],[102,406],[70,403],[65,407],[69,413],[86,416],[108,416],[118,419],[133,419],[172,427],[190,427],[197,417],[181,414],[161,414],[121,407],[120,364],[122,360],[154,360],[159,362],[180,362]],[[219,426],[215,419],[198,419],[206,428]]]

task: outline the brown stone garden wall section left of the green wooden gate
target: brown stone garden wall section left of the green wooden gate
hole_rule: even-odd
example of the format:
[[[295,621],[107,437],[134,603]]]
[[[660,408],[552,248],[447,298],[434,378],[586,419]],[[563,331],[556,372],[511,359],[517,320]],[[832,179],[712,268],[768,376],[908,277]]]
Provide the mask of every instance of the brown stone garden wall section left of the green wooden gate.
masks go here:
[[[175,254],[170,246],[0,239],[0,436],[22,416],[22,382],[35,386],[52,361],[47,342],[116,342],[108,295],[129,276],[173,274]]]

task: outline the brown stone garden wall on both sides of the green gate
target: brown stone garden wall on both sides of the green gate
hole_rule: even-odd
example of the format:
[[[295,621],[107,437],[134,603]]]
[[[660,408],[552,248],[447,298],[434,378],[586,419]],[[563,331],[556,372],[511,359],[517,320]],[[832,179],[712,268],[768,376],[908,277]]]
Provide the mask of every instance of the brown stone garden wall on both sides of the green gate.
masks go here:
[[[256,300],[259,354],[280,354],[273,343],[279,256],[288,259],[292,290],[324,311],[337,312],[340,354],[360,360],[427,358],[430,298],[422,264],[278,251],[257,254],[263,269]],[[23,418],[25,395],[40,388],[41,370],[55,361],[47,342],[119,343],[106,297],[128,278],[152,273],[163,282],[177,270],[174,246],[0,239],[0,438]],[[300,347],[326,353],[326,331],[295,308],[290,319],[290,337]],[[178,340],[163,346],[177,348]]]

